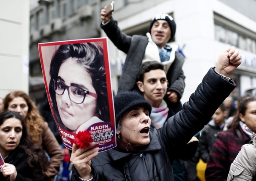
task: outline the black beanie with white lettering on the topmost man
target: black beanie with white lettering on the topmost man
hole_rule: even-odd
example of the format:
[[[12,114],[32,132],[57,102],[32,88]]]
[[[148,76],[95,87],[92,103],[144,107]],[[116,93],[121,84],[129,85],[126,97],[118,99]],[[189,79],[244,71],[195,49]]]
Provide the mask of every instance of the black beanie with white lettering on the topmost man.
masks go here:
[[[171,41],[176,32],[176,23],[175,23],[174,19],[169,14],[165,14],[165,13],[156,14],[150,22],[150,28],[149,28],[150,34],[151,34],[151,28],[152,28],[154,22],[157,20],[165,20],[168,22],[168,24],[171,28],[171,39],[169,39],[169,41]]]

